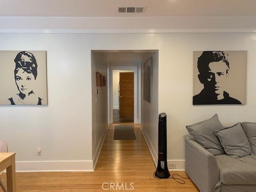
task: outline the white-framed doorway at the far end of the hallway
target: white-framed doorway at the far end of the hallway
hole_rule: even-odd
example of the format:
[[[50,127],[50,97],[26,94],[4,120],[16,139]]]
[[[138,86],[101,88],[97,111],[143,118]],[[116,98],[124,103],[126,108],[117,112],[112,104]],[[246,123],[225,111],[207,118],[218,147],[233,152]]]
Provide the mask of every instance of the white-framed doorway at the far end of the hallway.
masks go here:
[[[140,63],[131,62],[134,66],[113,66],[111,64],[109,66],[108,78],[108,124],[139,123],[140,74],[138,70],[140,70]],[[119,62],[118,64],[123,63]],[[118,90],[120,91],[119,93]]]

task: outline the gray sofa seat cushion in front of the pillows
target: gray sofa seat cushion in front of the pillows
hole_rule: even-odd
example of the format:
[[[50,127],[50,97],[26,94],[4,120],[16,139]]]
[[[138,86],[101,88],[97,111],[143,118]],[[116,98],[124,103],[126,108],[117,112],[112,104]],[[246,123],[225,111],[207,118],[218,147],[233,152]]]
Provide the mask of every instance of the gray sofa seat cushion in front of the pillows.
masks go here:
[[[225,185],[255,185],[256,156],[234,159],[226,154],[215,156],[220,169],[220,182]]]

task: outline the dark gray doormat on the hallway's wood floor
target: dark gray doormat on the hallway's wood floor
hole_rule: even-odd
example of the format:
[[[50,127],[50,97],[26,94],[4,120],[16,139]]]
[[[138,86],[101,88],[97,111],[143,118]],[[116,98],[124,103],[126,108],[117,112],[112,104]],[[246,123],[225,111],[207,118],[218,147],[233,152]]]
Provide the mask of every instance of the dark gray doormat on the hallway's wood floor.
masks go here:
[[[132,126],[116,125],[114,131],[114,140],[136,139]]]

